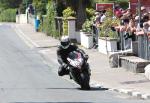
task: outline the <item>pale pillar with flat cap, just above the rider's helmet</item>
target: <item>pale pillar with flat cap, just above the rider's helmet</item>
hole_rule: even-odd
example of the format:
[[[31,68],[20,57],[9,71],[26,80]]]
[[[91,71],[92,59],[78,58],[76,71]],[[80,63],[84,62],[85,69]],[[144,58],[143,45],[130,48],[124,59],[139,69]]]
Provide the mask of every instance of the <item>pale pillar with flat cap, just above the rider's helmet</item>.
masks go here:
[[[72,40],[76,39],[75,20],[76,20],[76,18],[74,18],[74,17],[69,17],[68,18],[68,36]]]

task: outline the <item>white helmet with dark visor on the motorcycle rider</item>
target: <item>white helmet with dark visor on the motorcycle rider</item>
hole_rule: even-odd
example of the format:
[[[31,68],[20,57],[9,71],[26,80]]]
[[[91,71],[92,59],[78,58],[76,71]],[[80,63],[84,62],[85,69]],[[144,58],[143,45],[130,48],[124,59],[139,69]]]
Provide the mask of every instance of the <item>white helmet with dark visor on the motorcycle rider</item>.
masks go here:
[[[67,49],[70,45],[70,39],[68,36],[62,36],[60,40],[60,45],[63,49]]]

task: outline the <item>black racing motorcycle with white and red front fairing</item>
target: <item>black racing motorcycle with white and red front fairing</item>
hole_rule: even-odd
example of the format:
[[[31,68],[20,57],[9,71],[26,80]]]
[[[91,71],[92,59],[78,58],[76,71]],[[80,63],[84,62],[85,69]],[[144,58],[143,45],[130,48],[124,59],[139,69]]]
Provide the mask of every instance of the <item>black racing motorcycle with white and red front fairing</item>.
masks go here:
[[[67,58],[70,79],[81,86],[81,89],[90,89],[90,68],[87,63],[88,55],[79,51],[70,52]]]

